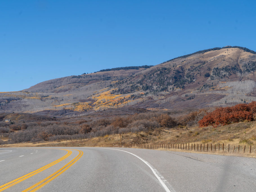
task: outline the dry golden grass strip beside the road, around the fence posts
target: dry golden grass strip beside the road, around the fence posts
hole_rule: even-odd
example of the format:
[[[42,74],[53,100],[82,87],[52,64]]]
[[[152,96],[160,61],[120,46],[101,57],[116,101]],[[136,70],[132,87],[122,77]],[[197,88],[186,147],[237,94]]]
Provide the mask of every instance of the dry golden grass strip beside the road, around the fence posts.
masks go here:
[[[95,137],[84,140],[64,140],[55,142],[43,142],[43,143],[17,143],[17,144],[6,144],[3,147],[123,147],[124,143],[135,143],[135,144],[176,144],[176,149],[168,149],[171,151],[180,152],[193,152],[193,153],[208,153],[218,155],[235,155],[256,158],[256,121],[252,122],[241,122],[233,123],[230,125],[219,126],[213,128],[212,126],[198,128],[191,127],[188,130],[177,130],[177,129],[155,129],[148,132],[138,133],[126,133],[121,135],[106,135],[104,137]],[[183,143],[190,143],[190,151],[178,149]],[[208,152],[197,152],[197,144],[199,146],[208,143]],[[222,144],[224,143],[224,152],[222,152]],[[195,144],[196,151],[191,151],[191,144]],[[216,145],[216,151],[210,151],[210,144],[214,150],[214,144]],[[218,147],[221,147],[219,152]],[[228,153],[228,144],[230,144],[230,152]],[[238,145],[240,151],[238,153]],[[244,145],[246,146],[245,153],[243,153]],[[235,151],[233,153],[233,147]],[[249,148],[251,146],[251,154]],[[157,149],[167,150],[167,149]],[[202,149],[203,150],[203,149]]]

